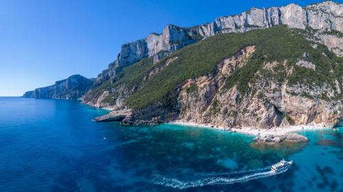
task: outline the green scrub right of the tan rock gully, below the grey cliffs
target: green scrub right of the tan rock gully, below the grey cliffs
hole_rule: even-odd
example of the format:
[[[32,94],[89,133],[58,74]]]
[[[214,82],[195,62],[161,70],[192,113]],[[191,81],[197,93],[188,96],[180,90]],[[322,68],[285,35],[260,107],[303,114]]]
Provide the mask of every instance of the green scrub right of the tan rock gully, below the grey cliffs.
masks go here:
[[[251,32],[259,34],[259,38],[252,41],[256,45],[256,51],[245,66],[235,70],[226,80],[227,88],[237,84],[237,90],[244,94],[248,90],[248,83],[257,78],[254,76],[257,71],[265,79],[280,83],[287,79],[289,85],[300,83],[309,87],[322,86],[323,83],[334,87],[333,80],[342,77],[342,58],[336,57],[322,44],[319,44],[317,49],[311,47],[311,42],[304,38],[302,35],[304,31],[300,29],[274,27]],[[308,55],[307,58],[303,57],[305,52]],[[316,70],[296,66],[296,61],[299,59],[311,61],[316,65]],[[289,77],[287,77],[286,68],[282,64],[285,60],[287,60],[289,68],[294,67],[293,73]],[[279,64],[272,70],[265,70],[261,67],[266,61],[279,61]],[[334,70],[335,74],[330,72],[331,70]]]

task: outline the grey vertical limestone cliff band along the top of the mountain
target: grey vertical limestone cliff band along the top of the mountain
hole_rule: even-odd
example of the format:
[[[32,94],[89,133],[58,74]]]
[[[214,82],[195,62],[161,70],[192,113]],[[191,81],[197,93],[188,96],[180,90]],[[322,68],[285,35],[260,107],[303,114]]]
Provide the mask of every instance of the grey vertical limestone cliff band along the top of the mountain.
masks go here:
[[[330,31],[343,33],[343,4],[324,1],[306,7],[289,4],[283,7],[252,8],[235,16],[215,18],[212,23],[196,27],[177,27],[167,25],[161,34],[151,33],[142,40],[123,44],[117,59],[104,70],[97,82],[117,79],[116,72],[124,66],[133,64],[144,57],[154,57],[158,61],[165,55],[193,44],[217,33],[241,33],[252,29],[287,25],[293,28],[315,30],[314,40],[329,47],[335,54],[343,56],[342,36],[332,35]]]

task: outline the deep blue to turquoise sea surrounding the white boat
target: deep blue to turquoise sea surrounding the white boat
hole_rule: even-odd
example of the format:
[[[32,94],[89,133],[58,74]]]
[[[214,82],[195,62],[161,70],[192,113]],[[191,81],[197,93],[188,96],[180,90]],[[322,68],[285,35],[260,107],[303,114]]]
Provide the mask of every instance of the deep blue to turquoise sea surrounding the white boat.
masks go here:
[[[0,191],[343,191],[343,128],[265,146],[209,128],[91,121],[104,113],[0,98]],[[270,174],[283,158],[294,166]]]

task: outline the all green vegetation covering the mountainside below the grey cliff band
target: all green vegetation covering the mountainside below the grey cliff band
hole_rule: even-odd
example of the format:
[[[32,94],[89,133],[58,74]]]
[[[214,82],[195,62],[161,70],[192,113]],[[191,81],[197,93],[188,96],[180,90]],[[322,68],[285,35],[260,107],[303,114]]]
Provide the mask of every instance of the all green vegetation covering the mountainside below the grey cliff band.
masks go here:
[[[248,83],[257,80],[255,74],[258,71],[263,78],[278,82],[287,80],[289,85],[297,83],[333,85],[333,79],[342,77],[343,59],[336,57],[322,44],[314,49],[311,46],[313,42],[304,38],[304,33],[307,31],[279,26],[246,33],[217,34],[186,46],[157,64],[153,64],[152,59],[142,59],[132,66],[123,68],[115,83],[108,85],[105,82],[106,85],[100,85],[100,87],[117,87],[125,84],[128,90],[134,91],[126,98],[126,104],[133,109],[143,109],[156,103],[171,107],[175,102],[174,91],[177,85],[187,79],[212,74],[216,64],[249,45],[255,45],[256,51],[246,65],[226,78],[227,89],[237,85],[239,92],[242,95],[245,94],[249,88]],[[303,57],[305,52],[309,55],[307,58]],[[152,68],[163,65],[167,59],[176,56],[178,59],[143,82],[143,77]],[[296,61],[299,59],[311,61],[316,65],[316,70],[296,66]],[[285,60],[287,64],[284,66],[282,63]],[[263,69],[263,64],[271,61],[279,61],[279,64],[272,68],[272,72]],[[293,73],[287,77],[286,68],[291,67],[294,68]],[[332,70],[333,72],[330,72]],[[194,84],[187,88],[187,92],[195,92],[197,89],[198,87]]]

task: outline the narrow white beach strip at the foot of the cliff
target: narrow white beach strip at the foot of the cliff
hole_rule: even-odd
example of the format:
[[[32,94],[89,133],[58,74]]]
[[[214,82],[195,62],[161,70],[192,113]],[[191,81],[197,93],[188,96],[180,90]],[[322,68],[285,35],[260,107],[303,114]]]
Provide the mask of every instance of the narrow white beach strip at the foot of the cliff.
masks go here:
[[[263,129],[263,128],[252,128],[252,127],[242,127],[242,128],[228,128],[223,126],[214,126],[212,124],[198,124],[195,122],[185,122],[185,121],[174,121],[169,122],[168,124],[177,124],[182,126],[196,126],[202,128],[213,128],[221,131],[234,131],[237,133],[244,133],[247,135],[285,135],[286,133],[292,133],[296,131],[305,131],[305,130],[320,130],[326,129],[330,127],[324,127],[320,125],[294,125],[285,127],[276,127],[270,129]]]

